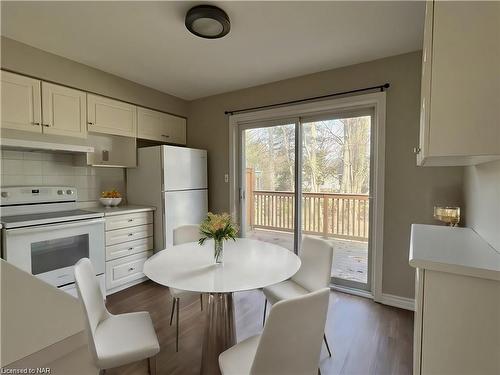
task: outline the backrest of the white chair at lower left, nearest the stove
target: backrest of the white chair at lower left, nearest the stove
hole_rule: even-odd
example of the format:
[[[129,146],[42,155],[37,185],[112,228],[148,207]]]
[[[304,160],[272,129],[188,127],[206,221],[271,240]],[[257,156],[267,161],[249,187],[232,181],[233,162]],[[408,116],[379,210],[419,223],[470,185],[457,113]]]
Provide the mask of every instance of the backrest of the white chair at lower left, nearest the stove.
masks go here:
[[[82,258],[75,265],[75,281],[78,296],[86,318],[86,328],[90,352],[94,361],[98,361],[95,346],[95,331],[100,322],[107,319],[110,313],[104,305],[104,297],[95,276],[94,268],[88,258]]]

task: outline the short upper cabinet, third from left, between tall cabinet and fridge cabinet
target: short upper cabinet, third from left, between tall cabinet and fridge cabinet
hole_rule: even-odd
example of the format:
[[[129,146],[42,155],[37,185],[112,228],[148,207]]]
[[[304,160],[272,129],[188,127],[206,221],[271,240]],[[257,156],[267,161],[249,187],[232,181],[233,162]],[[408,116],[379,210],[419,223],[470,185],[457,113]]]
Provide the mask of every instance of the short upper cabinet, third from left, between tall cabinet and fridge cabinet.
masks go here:
[[[137,107],[87,94],[87,122],[89,132],[136,137]]]

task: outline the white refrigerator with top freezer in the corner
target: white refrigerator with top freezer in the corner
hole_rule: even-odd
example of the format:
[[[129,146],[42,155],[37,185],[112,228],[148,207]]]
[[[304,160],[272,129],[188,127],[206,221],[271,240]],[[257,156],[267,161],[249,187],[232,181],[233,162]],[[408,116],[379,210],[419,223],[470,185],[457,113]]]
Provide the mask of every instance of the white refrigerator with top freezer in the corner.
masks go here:
[[[129,204],[154,206],[155,251],[172,246],[173,229],[200,224],[208,211],[207,152],[153,146],[137,150],[127,169]]]

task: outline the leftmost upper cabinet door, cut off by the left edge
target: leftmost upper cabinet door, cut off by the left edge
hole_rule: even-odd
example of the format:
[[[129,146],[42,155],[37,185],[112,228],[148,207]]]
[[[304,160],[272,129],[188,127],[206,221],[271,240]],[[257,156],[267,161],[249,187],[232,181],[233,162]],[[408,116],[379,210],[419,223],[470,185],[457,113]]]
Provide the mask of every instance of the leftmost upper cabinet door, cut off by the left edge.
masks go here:
[[[2,128],[41,133],[40,81],[1,72]]]

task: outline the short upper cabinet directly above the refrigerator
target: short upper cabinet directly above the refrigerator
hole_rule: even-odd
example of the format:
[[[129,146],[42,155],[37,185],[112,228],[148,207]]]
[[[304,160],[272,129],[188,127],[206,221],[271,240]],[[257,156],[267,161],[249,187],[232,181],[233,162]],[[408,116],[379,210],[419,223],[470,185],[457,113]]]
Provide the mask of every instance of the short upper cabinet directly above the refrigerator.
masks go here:
[[[186,119],[137,108],[137,137],[166,143],[186,144]]]

